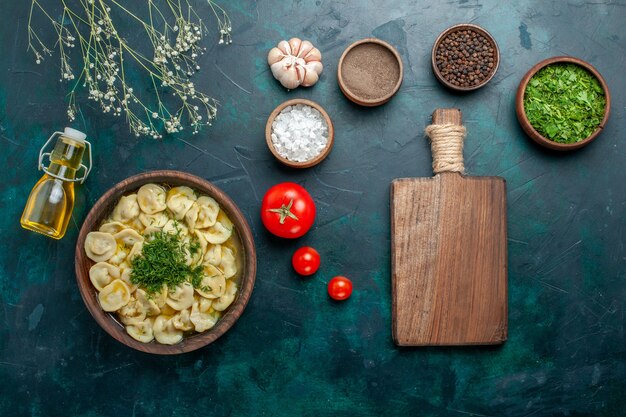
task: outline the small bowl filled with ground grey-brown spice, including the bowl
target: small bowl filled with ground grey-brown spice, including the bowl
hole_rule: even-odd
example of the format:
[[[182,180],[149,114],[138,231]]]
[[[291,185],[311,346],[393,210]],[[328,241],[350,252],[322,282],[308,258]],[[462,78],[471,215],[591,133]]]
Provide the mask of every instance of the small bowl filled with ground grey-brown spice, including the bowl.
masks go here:
[[[388,102],[402,84],[402,59],[385,41],[366,38],[348,46],[339,59],[337,80],[343,94],[361,106]]]

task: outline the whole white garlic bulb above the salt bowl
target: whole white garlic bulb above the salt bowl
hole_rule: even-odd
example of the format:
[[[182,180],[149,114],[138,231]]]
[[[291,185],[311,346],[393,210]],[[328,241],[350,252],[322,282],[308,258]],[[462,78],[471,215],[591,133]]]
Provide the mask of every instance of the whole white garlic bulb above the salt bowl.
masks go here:
[[[283,87],[310,87],[319,80],[324,66],[319,49],[309,41],[291,38],[280,41],[267,55],[272,74]]]

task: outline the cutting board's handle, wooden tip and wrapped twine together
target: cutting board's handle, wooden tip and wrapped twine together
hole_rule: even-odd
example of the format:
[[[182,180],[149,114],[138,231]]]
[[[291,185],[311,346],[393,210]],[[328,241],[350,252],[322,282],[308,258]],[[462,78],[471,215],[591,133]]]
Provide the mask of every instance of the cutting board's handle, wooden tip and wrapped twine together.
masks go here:
[[[426,136],[430,139],[435,174],[465,173],[463,165],[465,126],[462,123],[461,110],[436,109],[432,115],[432,124],[426,127]]]

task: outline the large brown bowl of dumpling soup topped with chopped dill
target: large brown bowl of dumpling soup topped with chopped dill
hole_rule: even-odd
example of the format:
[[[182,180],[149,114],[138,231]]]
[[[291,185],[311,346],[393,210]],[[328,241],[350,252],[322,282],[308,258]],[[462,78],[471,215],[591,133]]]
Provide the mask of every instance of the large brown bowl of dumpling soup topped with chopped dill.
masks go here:
[[[128,178],[91,209],[76,243],[76,278],[98,324],[155,354],[215,341],[242,314],[256,252],[235,203],[179,171]]]

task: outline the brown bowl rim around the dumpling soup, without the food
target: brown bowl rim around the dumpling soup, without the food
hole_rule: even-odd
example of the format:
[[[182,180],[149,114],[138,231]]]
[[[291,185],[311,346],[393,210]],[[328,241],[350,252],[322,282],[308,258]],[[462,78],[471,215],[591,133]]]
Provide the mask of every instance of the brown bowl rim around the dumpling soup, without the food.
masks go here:
[[[203,333],[185,337],[176,345],[162,345],[156,341],[141,343],[130,337],[128,333],[126,333],[124,326],[119,323],[111,313],[102,310],[97,300],[97,290],[89,280],[89,268],[91,268],[95,262],[89,259],[85,254],[85,237],[89,232],[97,230],[100,223],[113,210],[121,196],[147,183],[168,184],[172,186],[186,185],[213,197],[235,225],[235,229],[242,243],[244,257],[243,273],[237,298],[230,307],[226,309],[224,315],[213,328]],[[184,172],[152,171],[130,177],[118,183],[100,197],[87,215],[83,227],[80,229],[78,241],[76,242],[75,266],[76,281],[80,295],[83,297],[83,301],[93,318],[96,319],[98,324],[108,334],[126,346],[142,352],[159,355],[175,355],[190,352],[212,343],[235,324],[235,321],[237,321],[241,313],[243,313],[254,287],[256,277],[256,250],[248,222],[235,203],[222,190],[202,178]]]

